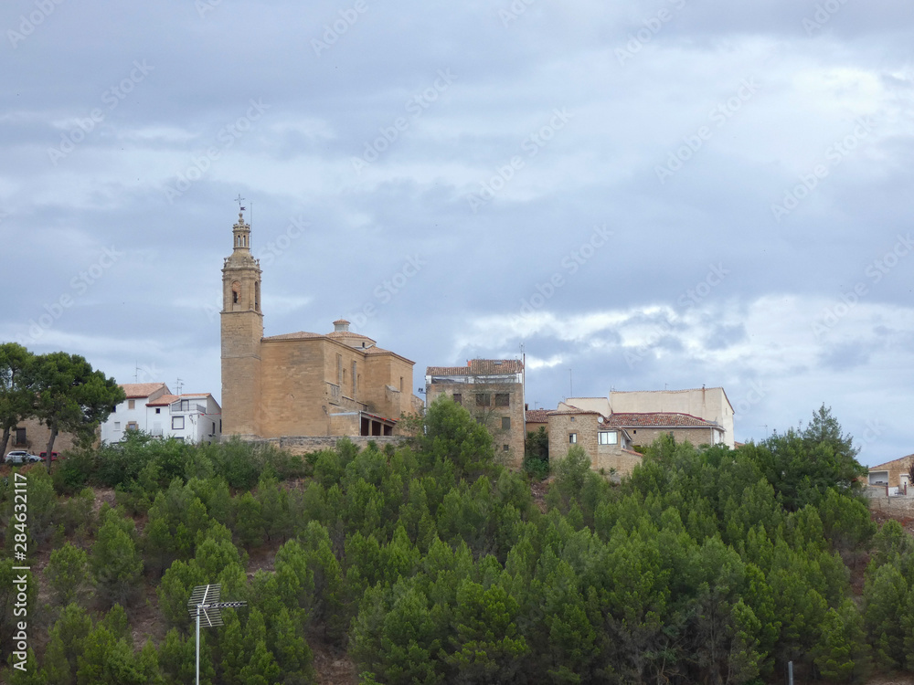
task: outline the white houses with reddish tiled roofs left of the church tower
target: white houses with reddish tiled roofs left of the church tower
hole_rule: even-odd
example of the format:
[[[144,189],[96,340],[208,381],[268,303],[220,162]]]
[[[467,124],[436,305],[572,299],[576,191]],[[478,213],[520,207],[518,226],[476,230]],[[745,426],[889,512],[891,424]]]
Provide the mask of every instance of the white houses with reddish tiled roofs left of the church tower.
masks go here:
[[[122,384],[127,398],[101,424],[101,439],[120,442],[128,430],[187,442],[218,441],[222,408],[209,393],[172,395],[164,383]]]

